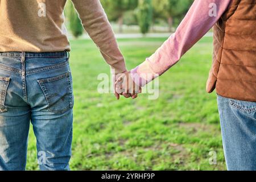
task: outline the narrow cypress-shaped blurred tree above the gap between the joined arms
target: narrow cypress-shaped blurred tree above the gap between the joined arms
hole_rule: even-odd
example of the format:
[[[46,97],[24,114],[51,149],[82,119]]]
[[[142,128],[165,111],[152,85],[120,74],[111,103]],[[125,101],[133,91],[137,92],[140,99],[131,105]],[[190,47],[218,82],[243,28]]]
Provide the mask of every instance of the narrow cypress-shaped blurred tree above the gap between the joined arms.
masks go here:
[[[146,34],[152,22],[152,0],[139,0],[137,19],[142,34]]]

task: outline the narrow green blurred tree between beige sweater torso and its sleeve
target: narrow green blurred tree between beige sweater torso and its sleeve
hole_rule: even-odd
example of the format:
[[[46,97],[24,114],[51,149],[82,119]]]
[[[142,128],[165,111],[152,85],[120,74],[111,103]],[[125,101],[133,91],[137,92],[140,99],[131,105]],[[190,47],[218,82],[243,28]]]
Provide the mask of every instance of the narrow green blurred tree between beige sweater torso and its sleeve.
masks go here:
[[[84,32],[84,27],[82,27],[81,20],[72,2],[67,2],[65,13],[68,16],[69,28],[72,35],[78,38]]]

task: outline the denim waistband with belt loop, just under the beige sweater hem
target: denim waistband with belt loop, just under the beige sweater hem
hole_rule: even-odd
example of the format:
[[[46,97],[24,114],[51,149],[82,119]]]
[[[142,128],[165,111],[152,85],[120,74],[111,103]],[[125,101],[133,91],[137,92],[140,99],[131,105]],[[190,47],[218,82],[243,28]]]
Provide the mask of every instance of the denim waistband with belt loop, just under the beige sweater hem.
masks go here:
[[[38,58],[54,58],[69,57],[68,51],[62,52],[0,52],[0,56],[5,57],[38,57]]]

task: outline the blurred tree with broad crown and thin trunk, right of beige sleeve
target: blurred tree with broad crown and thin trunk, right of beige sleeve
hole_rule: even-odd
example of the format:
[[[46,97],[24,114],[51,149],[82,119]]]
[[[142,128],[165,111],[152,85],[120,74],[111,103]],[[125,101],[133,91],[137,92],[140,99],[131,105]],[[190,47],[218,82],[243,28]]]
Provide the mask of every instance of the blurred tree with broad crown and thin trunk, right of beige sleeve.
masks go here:
[[[109,20],[117,20],[119,33],[123,31],[123,15],[138,6],[138,0],[101,0]]]

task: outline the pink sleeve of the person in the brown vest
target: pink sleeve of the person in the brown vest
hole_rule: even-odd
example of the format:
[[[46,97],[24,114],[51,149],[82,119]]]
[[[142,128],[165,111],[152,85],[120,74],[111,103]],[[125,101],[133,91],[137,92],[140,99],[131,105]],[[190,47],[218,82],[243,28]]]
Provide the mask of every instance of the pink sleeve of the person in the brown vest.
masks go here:
[[[135,83],[144,86],[177,63],[220,19],[231,1],[195,0],[176,32],[153,55],[131,70]]]

